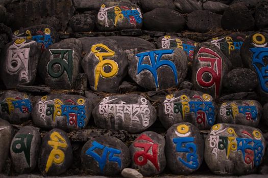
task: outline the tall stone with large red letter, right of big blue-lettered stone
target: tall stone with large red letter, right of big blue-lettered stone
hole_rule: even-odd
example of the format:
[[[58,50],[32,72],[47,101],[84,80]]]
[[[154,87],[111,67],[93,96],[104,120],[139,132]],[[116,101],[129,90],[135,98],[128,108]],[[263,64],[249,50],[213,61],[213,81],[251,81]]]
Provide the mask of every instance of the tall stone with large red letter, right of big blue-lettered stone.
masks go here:
[[[192,84],[195,90],[213,98],[221,95],[223,77],[231,70],[229,59],[214,44],[200,43],[193,54]]]

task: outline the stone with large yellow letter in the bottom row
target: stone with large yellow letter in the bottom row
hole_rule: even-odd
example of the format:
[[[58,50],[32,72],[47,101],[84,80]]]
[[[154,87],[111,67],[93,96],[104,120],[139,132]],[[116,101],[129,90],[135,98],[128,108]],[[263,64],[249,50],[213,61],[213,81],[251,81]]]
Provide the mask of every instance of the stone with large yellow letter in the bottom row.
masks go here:
[[[42,175],[60,175],[72,164],[72,148],[67,134],[53,129],[42,139],[38,167]]]

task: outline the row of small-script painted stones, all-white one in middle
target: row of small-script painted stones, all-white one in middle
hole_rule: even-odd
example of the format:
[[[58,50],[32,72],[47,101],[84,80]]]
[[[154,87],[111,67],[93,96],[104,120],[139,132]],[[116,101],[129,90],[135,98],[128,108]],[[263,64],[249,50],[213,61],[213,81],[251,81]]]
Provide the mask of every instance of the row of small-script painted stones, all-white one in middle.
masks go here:
[[[1,96],[0,101],[0,117],[4,120],[22,123],[32,117],[35,125],[43,129],[84,129],[91,112],[96,126],[130,133],[148,129],[157,119],[155,107],[137,94],[109,96],[94,108],[88,98],[76,95],[52,94],[37,97],[32,102],[26,94],[9,91]],[[160,103],[158,116],[166,129],[188,122],[204,130],[215,123],[257,127],[261,112],[262,106],[256,100],[233,100],[217,106],[210,95],[185,89],[167,95]],[[265,109],[263,113],[267,123]]]

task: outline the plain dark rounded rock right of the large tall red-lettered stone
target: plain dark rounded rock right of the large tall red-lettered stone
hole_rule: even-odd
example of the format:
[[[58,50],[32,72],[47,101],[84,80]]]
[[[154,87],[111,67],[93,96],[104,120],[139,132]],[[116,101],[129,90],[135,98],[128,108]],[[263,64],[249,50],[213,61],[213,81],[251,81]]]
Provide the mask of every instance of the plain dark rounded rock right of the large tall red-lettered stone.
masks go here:
[[[257,74],[250,69],[233,69],[224,76],[224,87],[235,93],[250,92],[258,86]]]

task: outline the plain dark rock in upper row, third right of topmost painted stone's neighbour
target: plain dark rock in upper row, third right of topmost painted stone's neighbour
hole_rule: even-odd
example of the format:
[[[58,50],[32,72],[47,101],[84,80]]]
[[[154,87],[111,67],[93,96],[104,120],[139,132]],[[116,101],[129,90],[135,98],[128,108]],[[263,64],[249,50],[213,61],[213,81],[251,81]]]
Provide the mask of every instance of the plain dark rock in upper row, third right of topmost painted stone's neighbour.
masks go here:
[[[197,10],[187,15],[186,25],[194,32],[211,32],[221,28],[222,15],[211,11]]]

